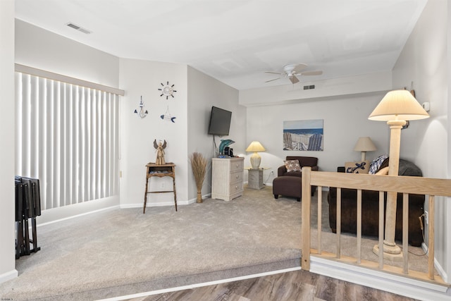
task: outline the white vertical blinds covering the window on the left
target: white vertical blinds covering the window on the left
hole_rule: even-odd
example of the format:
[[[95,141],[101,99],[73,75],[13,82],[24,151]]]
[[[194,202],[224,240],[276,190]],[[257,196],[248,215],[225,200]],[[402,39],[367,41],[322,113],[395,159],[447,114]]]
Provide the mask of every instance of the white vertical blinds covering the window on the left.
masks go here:
[[[42,209],[118,195],[119,96],[16,72],[16,175]]]

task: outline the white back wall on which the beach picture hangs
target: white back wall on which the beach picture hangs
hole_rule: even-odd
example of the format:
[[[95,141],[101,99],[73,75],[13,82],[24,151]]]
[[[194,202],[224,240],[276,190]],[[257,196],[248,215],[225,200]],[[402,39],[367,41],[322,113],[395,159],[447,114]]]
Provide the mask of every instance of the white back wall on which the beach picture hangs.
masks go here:
[[[345,161],[361,159],[354,152],[359,137],[369,136],[377,147],[368,152],[370,161],[379,154],[388,154],[388,127],[369,121],[368,116],[381,101],[383,93],[333,99],[309,99],[295,104],[252,106],[247,108],[247,140],[259,140],[266,148],[261,152],[261,166],[271,167],[277,176],[285,156],[316,156],[321,171],[336,171]],[[283,121],[323,119],[322,152],[283,150]],[[268,180],[271,183],[273,176]],[[266,180],[266,178],[265,178]]]

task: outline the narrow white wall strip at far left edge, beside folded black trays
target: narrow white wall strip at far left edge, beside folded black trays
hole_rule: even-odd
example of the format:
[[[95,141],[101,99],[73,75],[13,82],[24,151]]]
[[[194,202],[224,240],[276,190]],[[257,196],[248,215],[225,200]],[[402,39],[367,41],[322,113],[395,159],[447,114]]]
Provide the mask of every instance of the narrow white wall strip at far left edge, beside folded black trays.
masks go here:
[[[14,238],[14,1],[0,1],[0,283],[17,277]]]

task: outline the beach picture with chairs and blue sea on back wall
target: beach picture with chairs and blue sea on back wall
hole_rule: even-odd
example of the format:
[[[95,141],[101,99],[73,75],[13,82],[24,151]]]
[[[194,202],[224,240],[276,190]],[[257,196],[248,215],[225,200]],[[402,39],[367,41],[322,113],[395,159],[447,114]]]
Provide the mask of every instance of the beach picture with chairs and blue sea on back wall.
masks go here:
[[[323,119],[283,121],[283,150],[322,151]]]

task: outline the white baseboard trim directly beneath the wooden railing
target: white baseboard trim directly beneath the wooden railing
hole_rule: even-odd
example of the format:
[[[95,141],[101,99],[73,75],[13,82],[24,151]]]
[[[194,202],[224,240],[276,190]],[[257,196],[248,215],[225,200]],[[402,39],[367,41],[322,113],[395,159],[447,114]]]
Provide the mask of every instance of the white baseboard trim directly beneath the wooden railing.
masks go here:
[[[445,285],[417,281],[319,257],[311,257],[310,271],[417,300],[445,301],[451,297],[451,290]]]

